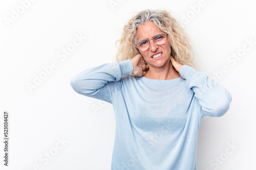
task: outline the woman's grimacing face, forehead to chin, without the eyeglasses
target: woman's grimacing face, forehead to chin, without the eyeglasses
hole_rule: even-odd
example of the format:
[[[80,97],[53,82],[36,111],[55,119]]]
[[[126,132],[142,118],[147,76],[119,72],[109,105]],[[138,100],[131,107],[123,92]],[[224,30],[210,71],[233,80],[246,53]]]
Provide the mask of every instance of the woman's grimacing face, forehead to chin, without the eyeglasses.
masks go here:
[[[159,33],[164,32],[160,30],[153,21],[147,21],[144,24],[141,24],[137,29],[137,38],[138,40],[152,39]],[[150,40],[150,47],[146,51],[140,51],[140,54],[151,69],[163,67],[169,64],[170,52],[171,48],[168,40],[166,40],[162,45],[157,45],[153,40]],[[156,55],[159,57],[156,57]]]

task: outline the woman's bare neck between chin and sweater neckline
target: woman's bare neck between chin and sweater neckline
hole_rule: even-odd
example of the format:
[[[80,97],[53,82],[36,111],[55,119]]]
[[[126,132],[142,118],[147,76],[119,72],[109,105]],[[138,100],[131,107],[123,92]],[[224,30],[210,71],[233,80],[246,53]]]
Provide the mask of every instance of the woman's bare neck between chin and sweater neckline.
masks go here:
[[[150,69],[148,69],[144,77],[156,80],[170,80],[179,78],[180,74],[175,70],[175,68],[172,65],[172,62],[169,62],[169,64],[163,67],[150,66]]]

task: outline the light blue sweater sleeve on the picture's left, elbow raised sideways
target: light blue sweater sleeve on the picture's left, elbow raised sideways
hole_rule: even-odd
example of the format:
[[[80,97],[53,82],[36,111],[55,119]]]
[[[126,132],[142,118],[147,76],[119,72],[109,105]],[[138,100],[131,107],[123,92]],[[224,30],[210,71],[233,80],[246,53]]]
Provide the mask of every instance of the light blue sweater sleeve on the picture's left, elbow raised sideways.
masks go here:
[[[71,79],[72,88],[79,94],[112,103],[113,95],[120,90],[121,76],[131,75],[131,60],[103,64],[82,71]]]

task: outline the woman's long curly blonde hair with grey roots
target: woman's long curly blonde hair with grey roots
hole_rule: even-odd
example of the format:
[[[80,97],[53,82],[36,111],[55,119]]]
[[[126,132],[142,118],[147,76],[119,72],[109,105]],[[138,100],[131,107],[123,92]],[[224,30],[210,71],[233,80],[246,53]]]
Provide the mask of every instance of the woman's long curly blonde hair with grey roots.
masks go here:
[[[132,59],[140,54],[135,46],[137,29],[147,21],[153,21],[159,29],[168,34],[168,41],[172,49],[171,55],[177,62],[196,69],[195,53],[191,47],[190,38],[180,23],[166,10],[143,10],[128,21],[123,28],[121,38],[116,42],[116,46],[119,43],[116,61]]]

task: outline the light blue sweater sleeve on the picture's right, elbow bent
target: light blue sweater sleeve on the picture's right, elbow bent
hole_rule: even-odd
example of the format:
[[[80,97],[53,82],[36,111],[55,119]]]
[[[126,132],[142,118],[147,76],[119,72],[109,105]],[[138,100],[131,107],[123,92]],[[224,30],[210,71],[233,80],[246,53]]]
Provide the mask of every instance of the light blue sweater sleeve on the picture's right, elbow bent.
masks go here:
[[[180,69],[188,88],[193,89],[202,109],[202,116],[222,116],[229,109],[231,94],[225,87],[208,78],[208,75],[184,65]]]

